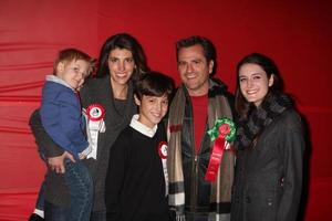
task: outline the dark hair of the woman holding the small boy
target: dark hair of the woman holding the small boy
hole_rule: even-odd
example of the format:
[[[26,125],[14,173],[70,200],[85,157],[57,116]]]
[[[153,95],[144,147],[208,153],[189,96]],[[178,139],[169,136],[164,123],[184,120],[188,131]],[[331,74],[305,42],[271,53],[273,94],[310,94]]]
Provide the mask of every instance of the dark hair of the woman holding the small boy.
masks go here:
[[[137,80],[139,76],[147,72],[149,69],[147,66],[146,56],[143,51],[143,48],[138,43],[138,41],[127,34],[127,33],[120,33],[110,36],[104,45],[101,49],[100,57],[98,57],[98,66],[96,71],[96,77],[103,77],[110,74],[108,69],[108,55],[112,50],[115,49],[126,49],[133,53],[133,59],[136,65],[132,78]]]

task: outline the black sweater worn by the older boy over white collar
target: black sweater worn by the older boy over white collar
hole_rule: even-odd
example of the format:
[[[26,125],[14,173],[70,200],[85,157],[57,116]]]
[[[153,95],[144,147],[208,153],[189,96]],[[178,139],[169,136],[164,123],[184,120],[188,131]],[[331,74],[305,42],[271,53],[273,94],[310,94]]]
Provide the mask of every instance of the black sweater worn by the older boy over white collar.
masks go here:
[[[106,177],[108,221],[168,220],[160,141],[166,141],[163,126],[152,138],[131,126],[117,137]]]

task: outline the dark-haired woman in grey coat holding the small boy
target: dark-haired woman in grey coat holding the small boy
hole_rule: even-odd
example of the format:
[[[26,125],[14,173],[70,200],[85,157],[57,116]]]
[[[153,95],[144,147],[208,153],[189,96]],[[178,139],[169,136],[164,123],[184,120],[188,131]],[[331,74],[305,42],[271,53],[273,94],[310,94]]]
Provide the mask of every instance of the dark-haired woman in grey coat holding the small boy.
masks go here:
[[[87,80],[81,90],[82,107],[87,116],[87,137],[94,147],[87,159],[83,160],[94,181],[92,221],[106,220],[104,194],[110,148],[137,113],[133,82],[146,71],[146,57],[137,40],[126,33],[115,34],[101,49],[96,77]],[[55,180],[46,183],[46,206],[51,210],[60,208],[59,211],[65,213],[70,196],[60,173],[65,172],[63,160],[71,156],[61,151],[45,134],[39,112],[33,113],[30,125],[39,148],[48,148],[46,158]]]

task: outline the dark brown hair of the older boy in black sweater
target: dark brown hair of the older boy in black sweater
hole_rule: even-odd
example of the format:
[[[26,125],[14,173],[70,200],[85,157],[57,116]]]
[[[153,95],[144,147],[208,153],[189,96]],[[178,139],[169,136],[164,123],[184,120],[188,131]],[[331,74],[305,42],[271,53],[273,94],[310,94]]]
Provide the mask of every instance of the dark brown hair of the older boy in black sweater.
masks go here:
[[[167,95],[168,99],[174,90],[172,77],[154,71],[146,72],[136,83],[135,95],[142,101],[143,95],[163,96]]]

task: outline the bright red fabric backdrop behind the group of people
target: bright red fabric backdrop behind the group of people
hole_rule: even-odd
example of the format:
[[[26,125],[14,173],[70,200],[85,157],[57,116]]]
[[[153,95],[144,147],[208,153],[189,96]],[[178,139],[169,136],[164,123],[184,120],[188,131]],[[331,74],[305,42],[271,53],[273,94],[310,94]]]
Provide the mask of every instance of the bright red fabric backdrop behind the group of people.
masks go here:
[[[152,69],[179,82],[175,42],[205,35],[218,50],[218,74],[235,88],[235,65],[250,52],[274,59],[309,125],[305,220],[332,220],[332,59],[330,0],[1,0],[0,220],[27,220],[44,165],[28,127],[44,75],[60,49],[97,56],[105,39],[128,32]]]

